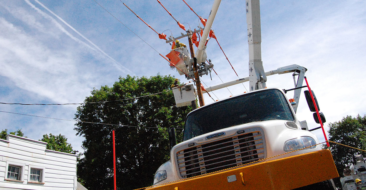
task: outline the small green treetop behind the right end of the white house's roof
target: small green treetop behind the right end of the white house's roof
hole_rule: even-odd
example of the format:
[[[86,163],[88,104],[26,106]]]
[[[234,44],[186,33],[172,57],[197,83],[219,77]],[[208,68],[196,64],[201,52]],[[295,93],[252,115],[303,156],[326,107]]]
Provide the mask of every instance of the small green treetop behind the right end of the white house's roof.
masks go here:
[[[66,152],[71,154],[76,154],[78,151],[72,149],[70,143],[67,142],[67,138],[61,134],[55,136],[53,134],[44,134],[43,138],[40,140],[47,142],[47,149],[59,152]]]

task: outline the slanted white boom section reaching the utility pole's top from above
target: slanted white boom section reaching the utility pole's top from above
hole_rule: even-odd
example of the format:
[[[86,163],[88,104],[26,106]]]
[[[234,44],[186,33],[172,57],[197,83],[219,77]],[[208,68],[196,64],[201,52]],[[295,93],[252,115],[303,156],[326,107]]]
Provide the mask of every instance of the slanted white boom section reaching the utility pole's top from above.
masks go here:
[[[203,53],[204,53],[203,47],[206,44],[207,37],[210,33],[212,23],[213,23],[213,20],[215,19],[215,16],[216,16],[217,10],[219,9],[220,3],[221,3],[221,0],[215,0],[213,2],[212,9],[210,11],[210,15],[208,16],[205,29],[203,30],[201,40],[199,41],[199,45],[198,45],[197,53],[196,53],[197,63],[199,63],[199,64],[201,64],[201,62],[206,61],[206,60],[202,60]]]

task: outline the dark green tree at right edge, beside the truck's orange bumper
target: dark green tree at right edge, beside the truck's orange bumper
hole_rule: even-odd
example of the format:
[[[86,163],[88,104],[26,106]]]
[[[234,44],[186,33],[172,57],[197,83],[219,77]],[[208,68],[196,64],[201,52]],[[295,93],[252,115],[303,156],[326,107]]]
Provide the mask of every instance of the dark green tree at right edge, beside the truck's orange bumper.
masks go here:
[[[329,123],[329,140],[340,144],[348,145],[359,149],[366,149],[366,115],[356,118],[351,116],[344,117],[341,121]],[[336,164],[338,173],[342,176],[343,169],[350,166],[352,156],[356,153],[362,153],[365,157],[365,152],[359,152],[356,149],[348,148],[335,143],[330,143],[333,159]]]

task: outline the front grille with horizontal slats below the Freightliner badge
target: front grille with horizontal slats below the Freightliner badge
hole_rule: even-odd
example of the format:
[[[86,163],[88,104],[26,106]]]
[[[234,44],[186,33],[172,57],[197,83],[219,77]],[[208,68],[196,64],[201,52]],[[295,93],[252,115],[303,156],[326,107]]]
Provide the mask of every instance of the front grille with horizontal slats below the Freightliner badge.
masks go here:
[[[189,178],[263,159],[263,142],[257,131],[181,150],[176,155],[180,176]]]

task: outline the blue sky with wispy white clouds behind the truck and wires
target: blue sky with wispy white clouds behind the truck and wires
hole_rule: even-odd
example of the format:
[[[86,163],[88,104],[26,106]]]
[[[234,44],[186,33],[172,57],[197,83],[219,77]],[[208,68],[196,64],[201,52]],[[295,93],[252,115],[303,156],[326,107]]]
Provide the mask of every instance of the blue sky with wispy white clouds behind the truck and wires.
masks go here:
[[[0,102],[79,103],[94,87],[112,86],[119,76],[127,74],[141,77],[160,73],[186,81],[157,53],[169,53],[170,46],[164,40],[119,0],[97,1],[155,50],[93,0],[0,0]],[[160,1],[180,23],[197,28],[197,16],[183,1]],[[208,17],[213,0],[186,1],[198,15]],[[248,76],[244,2],[222,1],[212,27],[240,77]],[[155,0],[124,3],[159,33],[169,29],[164,34],[179,36],[183,31]],[[265,71],[292,64],[306,67],[310,86],[327,119],[325,125],[346,115],[366,114],[364,7],[366,2],[361,0],[261,1]],[[187,44],[187,39],[181,42]],[[237,78],[214,40],[209,41],[207,53],[223,81]],[[209,76],[202,80],[207,86],[221,83],[214,73],[212,81]],[[269,76],[267,86],[292,88],[292,76]],[[234,95],[246,91],[242,85],[229,90]],[[214,99],[229,95],[227,89],[212,93]],[[205,100],[212,102],[207,96]],[[76,107],[0,104],[0,111],[73,119]],[[304,96],[298,118],[307,120],[309,128],[318,126]],[[27,137],[37,140],[46,133],[61,133],[81,151],[83,138],[75,136],[74,122],[9,113],[0,113],[0,121],[0,129],[21,128]],[[320,130],[315,133],[324,141]]]

